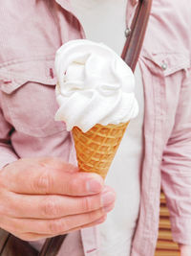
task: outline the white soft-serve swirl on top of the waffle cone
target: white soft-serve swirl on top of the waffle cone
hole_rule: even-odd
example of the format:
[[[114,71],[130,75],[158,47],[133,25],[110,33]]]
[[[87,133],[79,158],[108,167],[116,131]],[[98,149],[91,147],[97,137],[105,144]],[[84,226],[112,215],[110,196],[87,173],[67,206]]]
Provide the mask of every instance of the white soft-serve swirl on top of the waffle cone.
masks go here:
[[[55,57],[56,121],[84,132],[96,124],[125,123],[138,115],[135,78],[109,47],[86,39],[61,46]]]

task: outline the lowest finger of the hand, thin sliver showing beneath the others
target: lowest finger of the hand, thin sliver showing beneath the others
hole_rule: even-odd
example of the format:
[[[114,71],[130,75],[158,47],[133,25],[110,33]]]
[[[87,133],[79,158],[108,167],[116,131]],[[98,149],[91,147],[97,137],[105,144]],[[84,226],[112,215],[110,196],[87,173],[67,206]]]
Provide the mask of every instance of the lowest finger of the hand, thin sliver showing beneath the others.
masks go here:
[[[67,233],[64,233],[64,234],[69,234],[71,232],[74,232],[74,231],[77,231],[77,230],[80,230],[82,228],[87,228],[87,227],[92,227],[92,226],[95,226],[95,225],[98,225],[104,221],[106,221],[107,219],[107,215],[101,217],[100,219],[96,220],[96,221],[93,221],[89,224],[85,224],[85,225],[82,225],[82,226],[78,226],[74,229],[71,229],[71,230],[68,230]],[[57,235],[64,235],[64,234],[57,234]],[[15,234],[16,237],[24,240],[24,241],[37,241],[37,240],[40,240],[40,239],[47,239],[47,238],[52,238],[53,236],[50,236],[50,234],[36,234],[36,233],[23,233],[23,234]]]

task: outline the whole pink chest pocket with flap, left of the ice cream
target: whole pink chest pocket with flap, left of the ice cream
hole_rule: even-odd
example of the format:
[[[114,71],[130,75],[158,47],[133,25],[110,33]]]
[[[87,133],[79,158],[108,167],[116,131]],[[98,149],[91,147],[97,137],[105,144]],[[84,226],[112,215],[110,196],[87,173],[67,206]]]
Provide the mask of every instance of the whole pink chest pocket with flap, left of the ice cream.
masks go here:
[[[0,69],[1,105],[16,131],[46,137],[66,130],[64,123],[54,121],[55,83],[52,59],[11,63]]]

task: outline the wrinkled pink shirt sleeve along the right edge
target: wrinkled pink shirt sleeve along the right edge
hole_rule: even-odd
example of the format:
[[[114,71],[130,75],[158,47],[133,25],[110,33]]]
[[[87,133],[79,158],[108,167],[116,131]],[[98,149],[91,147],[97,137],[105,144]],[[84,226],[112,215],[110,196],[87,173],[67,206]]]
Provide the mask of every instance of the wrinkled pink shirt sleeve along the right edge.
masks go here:
[[[191,244],[191,70],[180,89],[175,125],[163,153],[161,186],[170,211],[173,239]]]

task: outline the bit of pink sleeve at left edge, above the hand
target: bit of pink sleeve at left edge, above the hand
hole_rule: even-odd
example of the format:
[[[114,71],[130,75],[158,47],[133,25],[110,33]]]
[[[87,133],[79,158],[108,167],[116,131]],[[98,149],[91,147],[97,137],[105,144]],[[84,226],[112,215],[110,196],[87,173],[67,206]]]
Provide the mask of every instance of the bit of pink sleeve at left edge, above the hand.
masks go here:
[[[13,128],[6,121],[0,106],[0,170],[7,164],[18,159],[11,147],[11,131]]]

